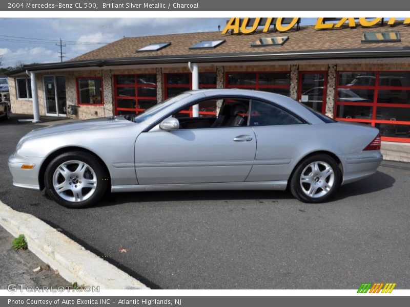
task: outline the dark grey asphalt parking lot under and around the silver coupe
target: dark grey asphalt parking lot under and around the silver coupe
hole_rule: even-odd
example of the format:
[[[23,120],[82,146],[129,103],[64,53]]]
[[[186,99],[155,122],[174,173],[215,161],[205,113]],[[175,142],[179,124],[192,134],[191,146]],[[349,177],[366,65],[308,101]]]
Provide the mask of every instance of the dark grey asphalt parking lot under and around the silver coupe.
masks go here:
[[[277,191],[145,192],[74,210],[12,186],[8,156],[39,127],[0,122],[0,200],[60,228],[148,287],[357,289],[396,282],[410,289],[408,163],[383,162],[326,204]]]

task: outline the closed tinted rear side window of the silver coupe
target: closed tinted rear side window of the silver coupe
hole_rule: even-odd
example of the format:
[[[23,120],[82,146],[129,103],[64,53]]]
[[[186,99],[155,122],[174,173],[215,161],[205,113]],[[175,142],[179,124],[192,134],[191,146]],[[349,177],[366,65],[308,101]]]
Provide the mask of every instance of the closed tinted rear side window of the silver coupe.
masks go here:
[[[273,104],[260,100],[252,100],[250,118],[251,126],[277,126],[296,124],[303,124],[303,122]]]

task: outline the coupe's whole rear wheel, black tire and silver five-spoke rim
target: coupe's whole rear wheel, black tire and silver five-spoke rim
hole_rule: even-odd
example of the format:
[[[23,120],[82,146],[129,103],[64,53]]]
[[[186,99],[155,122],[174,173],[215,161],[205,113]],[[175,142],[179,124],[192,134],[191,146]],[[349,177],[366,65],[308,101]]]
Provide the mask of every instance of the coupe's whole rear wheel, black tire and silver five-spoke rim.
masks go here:
[[[292,194],[305,203],[329,200],[341,183],[341,171],[336,161],[323,154],[306,158],[296,167],[290,182]]]

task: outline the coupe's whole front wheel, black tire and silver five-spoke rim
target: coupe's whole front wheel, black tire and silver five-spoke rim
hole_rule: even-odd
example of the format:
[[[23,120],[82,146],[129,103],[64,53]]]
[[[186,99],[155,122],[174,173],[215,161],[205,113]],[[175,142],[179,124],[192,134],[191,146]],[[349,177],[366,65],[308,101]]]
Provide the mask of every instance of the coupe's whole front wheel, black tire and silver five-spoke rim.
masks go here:
[[[107,177],[105,168],[91,153],[67,152],[47,166],[46,192],[65,207],[88,207],[96,204],[106,193]]]

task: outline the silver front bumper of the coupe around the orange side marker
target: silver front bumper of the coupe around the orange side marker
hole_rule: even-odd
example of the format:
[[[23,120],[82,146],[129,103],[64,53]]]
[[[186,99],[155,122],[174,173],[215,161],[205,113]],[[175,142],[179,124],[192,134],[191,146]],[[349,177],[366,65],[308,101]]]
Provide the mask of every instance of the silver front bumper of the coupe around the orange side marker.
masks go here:
[[[44,158],[19,156],[13,153],[9,157],[9,169],[13,176],[13,185],[31,190],[40,190],[38,172]],[[33,165],[32,168],[22,168],[24,165]]]

